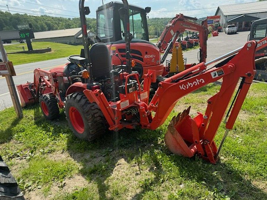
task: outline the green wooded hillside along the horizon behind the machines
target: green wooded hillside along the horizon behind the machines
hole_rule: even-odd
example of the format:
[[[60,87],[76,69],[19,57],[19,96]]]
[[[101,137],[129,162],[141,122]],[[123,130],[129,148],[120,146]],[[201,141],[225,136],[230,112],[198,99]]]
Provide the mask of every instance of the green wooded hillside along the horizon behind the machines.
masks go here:
[[[170,18],[150,18],[147,20],[149,35],[160,36]],[[34,32],[53,31],[81,27],[80,18],[34,16],[27,14],[11,14],[0,11],[0,31],[16,30],[17,25],[31,23]],[[96,19],[87,18],[88,30],[96,32]]]

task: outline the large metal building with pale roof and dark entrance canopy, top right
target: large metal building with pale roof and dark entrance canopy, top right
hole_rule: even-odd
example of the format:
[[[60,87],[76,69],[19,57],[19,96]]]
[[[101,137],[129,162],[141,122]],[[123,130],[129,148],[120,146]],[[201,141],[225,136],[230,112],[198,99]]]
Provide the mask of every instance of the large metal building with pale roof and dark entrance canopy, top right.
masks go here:
[[[251,21],[267,17],[267,1],[219,6],[215,15],[220,15],[223,28],[235,24],[238,31],[249,31]]]

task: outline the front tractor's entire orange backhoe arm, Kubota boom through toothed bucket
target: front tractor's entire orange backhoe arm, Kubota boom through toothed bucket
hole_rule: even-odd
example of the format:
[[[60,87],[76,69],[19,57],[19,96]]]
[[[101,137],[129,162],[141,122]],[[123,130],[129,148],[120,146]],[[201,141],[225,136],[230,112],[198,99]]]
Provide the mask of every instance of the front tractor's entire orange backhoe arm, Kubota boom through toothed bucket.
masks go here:
[[[205,115],[198,113],[192,119],[189,116],[189,109],[187,109],[171,121],[165,142],[173,153],[187,157],[192,157],[197,153],[198,156],[211,163],[216,162],[217,147],[214,143],[214,136],[231,101],[236,85],[243,77],[226,123],[227,130],[233,127],[256,73],[254,62],[256,44],[256,41],[247,42],[235,57],[218,68],[206,69],[207,64],[199,63],[183,71],[182,74],[179,73],[159,83],[158,90],[148,106],[148,112],[155,111],[155,116],[148,126],[150,129],[156,129],[164,123],[181,97],[223,78],[220,91],[208,100]]]

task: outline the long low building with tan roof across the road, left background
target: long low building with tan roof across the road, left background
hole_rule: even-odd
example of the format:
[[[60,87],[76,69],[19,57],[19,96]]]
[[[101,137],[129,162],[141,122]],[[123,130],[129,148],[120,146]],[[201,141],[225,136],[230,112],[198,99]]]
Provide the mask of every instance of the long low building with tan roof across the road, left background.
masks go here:
[[[35,39],[32,39],[33,42],[58,42],[72,45],[82,44],[81,28],[35,32],[34,36]],[[88,36],[94,37],[96,33],[88,31]]]

